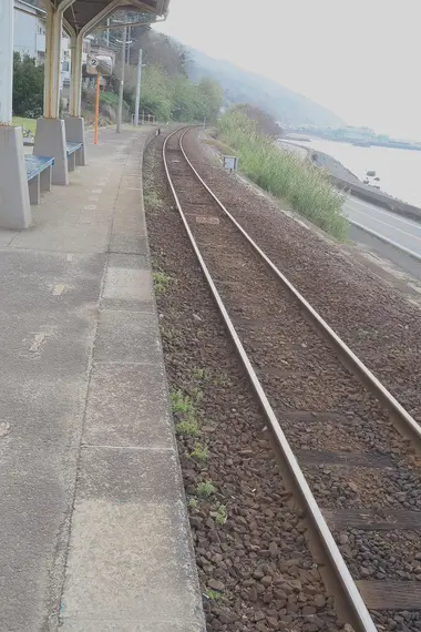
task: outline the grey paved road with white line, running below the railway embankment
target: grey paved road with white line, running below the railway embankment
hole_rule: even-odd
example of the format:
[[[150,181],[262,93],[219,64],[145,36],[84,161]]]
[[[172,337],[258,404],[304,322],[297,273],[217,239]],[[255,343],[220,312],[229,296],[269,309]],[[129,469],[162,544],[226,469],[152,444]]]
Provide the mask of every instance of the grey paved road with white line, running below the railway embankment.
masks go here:
[[[349,197],[343,204],[343,211],[351,222],[379,234],[421,258],[421,223],[357,197]]]

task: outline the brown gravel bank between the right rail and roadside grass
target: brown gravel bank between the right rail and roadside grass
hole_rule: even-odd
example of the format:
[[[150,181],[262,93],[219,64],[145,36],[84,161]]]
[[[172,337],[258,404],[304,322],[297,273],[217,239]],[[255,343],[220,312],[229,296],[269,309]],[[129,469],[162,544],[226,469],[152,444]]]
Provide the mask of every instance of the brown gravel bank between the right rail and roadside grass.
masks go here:
[[[420,308],[352,258],[220,167],[197,133],[186,151],[215,194],[279,269],[421,421]],[[284,206],[287,210],[287,206]]]

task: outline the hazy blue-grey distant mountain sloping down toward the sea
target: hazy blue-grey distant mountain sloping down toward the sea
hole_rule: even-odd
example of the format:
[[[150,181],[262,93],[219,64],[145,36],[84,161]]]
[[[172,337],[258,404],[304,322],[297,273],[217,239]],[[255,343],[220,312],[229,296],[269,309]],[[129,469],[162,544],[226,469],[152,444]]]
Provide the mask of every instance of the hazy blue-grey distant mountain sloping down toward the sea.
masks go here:
[[[280,124],[342,126],[345,121],[333,112],[279,83],[191,49],[189,75],[215,79],[225,94],[225,104],[250,103],[273,114]]]

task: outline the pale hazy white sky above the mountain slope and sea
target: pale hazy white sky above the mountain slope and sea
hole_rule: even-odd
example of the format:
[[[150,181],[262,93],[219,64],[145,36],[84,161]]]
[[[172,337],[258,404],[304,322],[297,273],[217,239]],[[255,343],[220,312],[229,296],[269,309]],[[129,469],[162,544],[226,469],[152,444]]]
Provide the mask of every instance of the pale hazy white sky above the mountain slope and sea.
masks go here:
[[[171,0],[160,30],[349,124],[421,140],[421,0]]]

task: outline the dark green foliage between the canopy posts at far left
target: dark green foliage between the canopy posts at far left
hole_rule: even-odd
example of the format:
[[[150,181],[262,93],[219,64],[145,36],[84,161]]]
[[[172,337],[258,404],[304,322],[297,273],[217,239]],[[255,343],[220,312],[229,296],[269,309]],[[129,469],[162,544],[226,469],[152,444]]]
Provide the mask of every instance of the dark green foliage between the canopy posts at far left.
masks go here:
[[[13,53],[13,114],[37,119],[42,116],[44,67],[37,65],[28,54]]]

